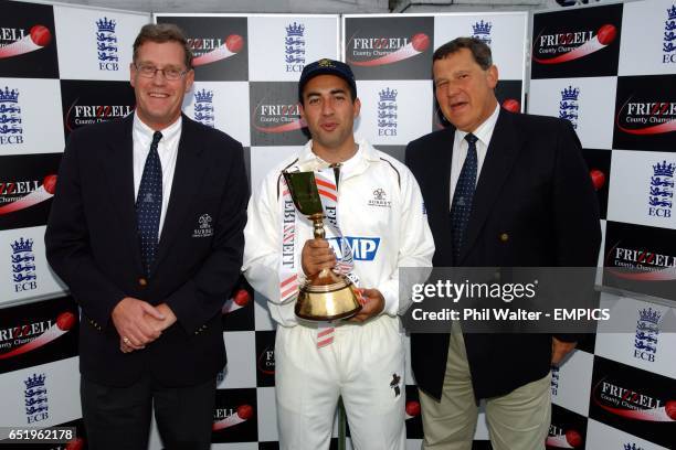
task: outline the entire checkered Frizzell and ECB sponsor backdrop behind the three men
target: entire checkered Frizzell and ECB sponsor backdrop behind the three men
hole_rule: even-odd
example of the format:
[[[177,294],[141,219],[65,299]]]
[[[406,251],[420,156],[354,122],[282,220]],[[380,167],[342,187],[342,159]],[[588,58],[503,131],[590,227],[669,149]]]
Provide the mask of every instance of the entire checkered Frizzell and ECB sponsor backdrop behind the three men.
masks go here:
[[[133,110],[131,43],[152,18],[19,1],[0,4],[0,386],[8,404],[0,424],[72,426],[77,437],[68,448],[85,449],[78,312],[46,264],[44,225],[70,132]],[[602,212],[600,265],[659,274],[676,266],[673,0],[539,12],[532,21],[525,12],[155,20],[187,31],[196,87],[183,111],[243,143],[253,190],[307,140],[296,90],[305,64],[348,62],[362,100],[356,133],[403,159],[409,140],[445,126],[433,99],[431,56],[453,38],[487,42],[499,67],[500,105],[525,109],[532,22],[529,111],[577,127]],[[661,291],[653,279],[640,280],[646,292]],[[214,449],[278,448],[275,325],[265,301],[242,281],[224,302],[230,365],[219,374]],[[674,448],[676,342],[659,332],[676,320],[674,308],[606,293],[602,306],[621,311],[622,323],[600,326],[552,372],[547,448]],[[406,447],[418,449],[423,435],[410,368],[405,396]],[[489,449],[487,439],[482,415],[474,448]],[[150,448],[162,448],[156,429]]]

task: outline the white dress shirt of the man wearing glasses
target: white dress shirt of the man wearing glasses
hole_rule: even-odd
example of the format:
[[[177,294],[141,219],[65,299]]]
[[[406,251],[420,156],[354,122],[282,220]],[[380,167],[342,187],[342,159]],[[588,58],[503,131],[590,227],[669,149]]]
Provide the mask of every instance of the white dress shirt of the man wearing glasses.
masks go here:
[[[171,194],[171,183],[173,182],[173,172],[176,171],[176,157],[178,154],[178,143],[181,138],[182,117],[171,124],[163,130],[157,146],[157,152],[162,164],[162,211],[160,213],[160,223],[158,229],[158,239],[162,233],[165,217],[167,216],[167,206],[169,206],[169,195]],[[138,197],[138,189],[140,179],[144,175],[144,167],[146,158],[150,152],[150,143],[152,143],[152,135],[155,130],[144,124],[138,115],[134,115],[134,199]]]

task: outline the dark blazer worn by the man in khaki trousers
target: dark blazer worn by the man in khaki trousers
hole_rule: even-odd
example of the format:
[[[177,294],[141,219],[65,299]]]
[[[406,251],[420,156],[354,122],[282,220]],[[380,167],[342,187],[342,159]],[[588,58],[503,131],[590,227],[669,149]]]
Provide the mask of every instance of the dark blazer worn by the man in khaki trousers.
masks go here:
[[[580,141],[568,121],[500,110],[473,200],[460,260],[450,221],[455,129],[426,135],[406,148],[406,164],[425,202],[435,267],[595,267],[599,206]],[[508,394],[550,368],[549,334],[465,334],[477,398]],[[571,341],[574,338],[558,335]],[[448,334],[413,334],[416,383],[442,393]]]

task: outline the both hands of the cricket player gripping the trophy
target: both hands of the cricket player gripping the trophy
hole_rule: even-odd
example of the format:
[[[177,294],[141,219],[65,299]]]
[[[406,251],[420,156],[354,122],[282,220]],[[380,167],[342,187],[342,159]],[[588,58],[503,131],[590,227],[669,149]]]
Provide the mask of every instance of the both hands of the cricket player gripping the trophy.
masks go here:
[[[336,267],[336,254],[326,239],[308,239],[300,254],[303,271],[306,276],[318,274],[321,269]],[[358,289],[361,293],[361,311],[349,319],[350,322],[365,322],[384,309],[384,298],[378,289]]]

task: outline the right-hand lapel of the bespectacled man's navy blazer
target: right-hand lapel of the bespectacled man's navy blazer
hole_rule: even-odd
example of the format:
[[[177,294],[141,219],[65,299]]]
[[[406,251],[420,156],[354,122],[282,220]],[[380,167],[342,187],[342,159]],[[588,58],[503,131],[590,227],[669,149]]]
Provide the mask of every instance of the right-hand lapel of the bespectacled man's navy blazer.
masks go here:
[[[167,255],[171,243],[177,238],[181,224],[188,216],[187,212],[198,195],[203,179],[202,173],[208,168],[208,164],[200,161],[202,147],[194,124],[184,115],[182,117],[183,124],[181,125],[181,138],[176,158],[173,181],[171,182],[171,193],[169,194],[169,206],[162,225],[157,257],[150,270],[151,274],[155,272],[158,264]]]

